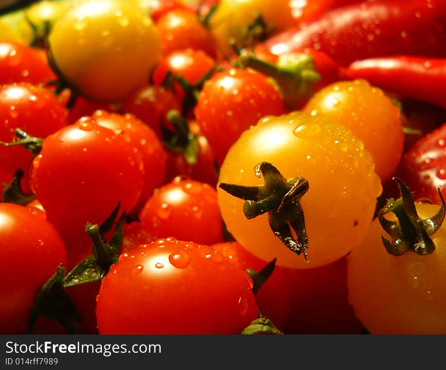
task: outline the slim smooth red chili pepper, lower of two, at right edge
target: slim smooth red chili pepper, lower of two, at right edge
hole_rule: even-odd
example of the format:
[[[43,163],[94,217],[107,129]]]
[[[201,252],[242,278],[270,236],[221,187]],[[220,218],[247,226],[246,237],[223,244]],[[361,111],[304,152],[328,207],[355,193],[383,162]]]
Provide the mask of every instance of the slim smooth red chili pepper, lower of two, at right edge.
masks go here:
[[[359,60],[347,69],[352,79],[362,78],[402,97],[446,108],[446,59],[395,56]]]

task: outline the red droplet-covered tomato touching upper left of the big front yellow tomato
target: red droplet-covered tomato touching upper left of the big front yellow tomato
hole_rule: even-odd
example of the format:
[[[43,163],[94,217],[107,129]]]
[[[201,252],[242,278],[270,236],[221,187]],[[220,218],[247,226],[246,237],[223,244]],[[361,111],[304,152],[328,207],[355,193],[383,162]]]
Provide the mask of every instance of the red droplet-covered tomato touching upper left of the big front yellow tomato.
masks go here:
[[[206,81],[194,109],[218,165],[240,134],[267,115],[285,113],[282,96],[265,75],[231,68]]]

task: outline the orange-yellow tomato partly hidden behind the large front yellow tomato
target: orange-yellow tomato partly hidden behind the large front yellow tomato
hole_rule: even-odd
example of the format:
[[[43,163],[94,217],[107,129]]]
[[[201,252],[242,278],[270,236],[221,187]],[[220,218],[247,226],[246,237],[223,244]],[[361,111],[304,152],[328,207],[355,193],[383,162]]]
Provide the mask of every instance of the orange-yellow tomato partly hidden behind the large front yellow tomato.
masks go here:
[[[334,83],[318,91],[303,110],[352,130],[364,141],[381,180],[390,178],[401,158],[404,134],[399,108],[381,89],[365,80]]]

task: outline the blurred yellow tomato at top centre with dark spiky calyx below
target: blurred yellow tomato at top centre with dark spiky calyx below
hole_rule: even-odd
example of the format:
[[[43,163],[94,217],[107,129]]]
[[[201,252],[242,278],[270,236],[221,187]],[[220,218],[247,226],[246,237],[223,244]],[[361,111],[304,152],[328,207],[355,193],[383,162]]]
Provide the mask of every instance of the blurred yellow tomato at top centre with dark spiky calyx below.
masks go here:
[[[257,14],[262,15],[273,32],[295,25],[289,3],[289,0],[221,0],[210,22],[220,52],[226,56],[232,54],[231,38],[240,46]]]

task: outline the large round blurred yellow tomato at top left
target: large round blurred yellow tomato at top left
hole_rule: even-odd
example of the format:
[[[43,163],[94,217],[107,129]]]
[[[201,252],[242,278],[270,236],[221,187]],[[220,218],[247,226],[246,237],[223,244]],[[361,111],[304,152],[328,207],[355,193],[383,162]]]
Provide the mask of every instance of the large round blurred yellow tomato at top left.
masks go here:
[[[86,97],[125,98],[145,84],[161,58],[158,31],[134,2],[91,0],[54,25],[49,45],[64,78]]]

